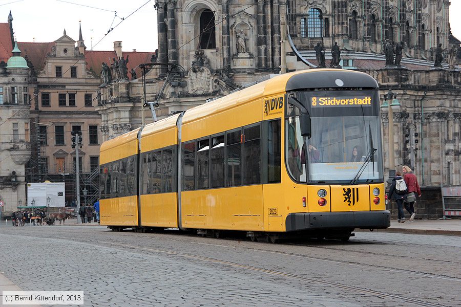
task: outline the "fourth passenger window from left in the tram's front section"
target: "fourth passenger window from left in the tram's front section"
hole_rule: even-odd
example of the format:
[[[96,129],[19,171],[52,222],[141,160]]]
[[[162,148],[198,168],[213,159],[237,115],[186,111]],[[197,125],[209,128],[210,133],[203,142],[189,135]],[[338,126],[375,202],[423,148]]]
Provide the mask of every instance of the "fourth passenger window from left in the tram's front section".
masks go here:
[[[242,144],[241,144],[242,129],[228,131],[226,141],[226,167],[227,180],[226,186],[233,187],[242,184]]]

